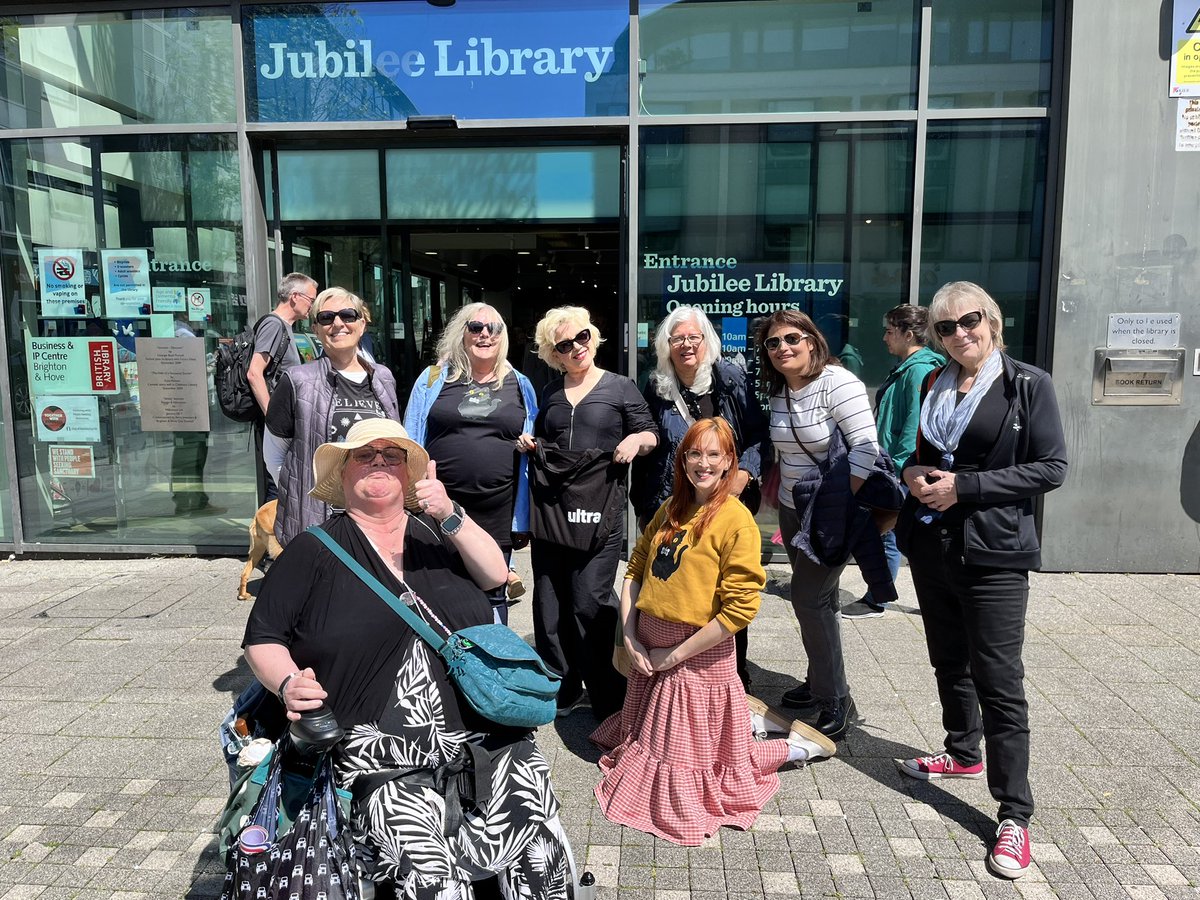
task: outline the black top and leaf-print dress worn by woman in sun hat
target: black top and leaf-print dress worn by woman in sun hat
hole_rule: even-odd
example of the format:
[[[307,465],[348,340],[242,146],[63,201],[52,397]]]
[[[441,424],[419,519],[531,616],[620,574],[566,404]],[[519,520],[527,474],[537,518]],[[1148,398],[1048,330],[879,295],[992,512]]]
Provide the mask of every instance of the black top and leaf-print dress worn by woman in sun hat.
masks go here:
[[[323,526],[397,595],[395,575],[344,514]],[[491,622],[491,605],[436,526],[410,516],[404,580],[449,629]],[[437,626],[434,626],[437,630]],[[370,877],[406,900],[472,900],[470,882],[499,876],[506,898],[565,900],[569,863],[550,767],[529,732],[502,728],[460,703],[445,664],[313,535],[300,534],[271,566],[244,646],[280,643],[311,666],[347,730],[335,776],[349,790],[366,772],[437,768],[466,743],[493,756],[491,798],[444,835],[445,800],[392,780],[353,810]]]

